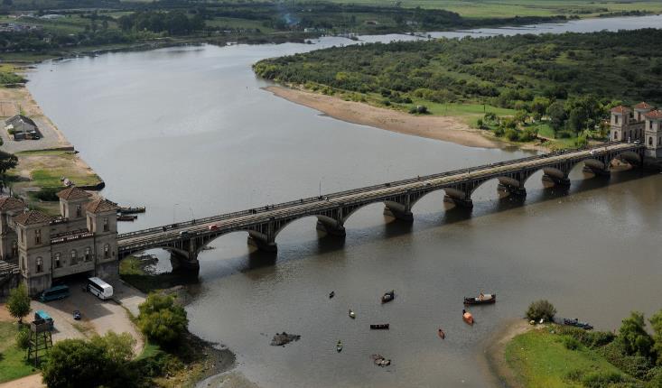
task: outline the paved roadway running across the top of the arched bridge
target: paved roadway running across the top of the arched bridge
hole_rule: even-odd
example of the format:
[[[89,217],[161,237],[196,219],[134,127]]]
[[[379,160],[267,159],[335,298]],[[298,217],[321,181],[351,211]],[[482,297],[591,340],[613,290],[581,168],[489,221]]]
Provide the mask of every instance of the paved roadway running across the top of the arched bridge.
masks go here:
[[[209,226],[212,225],[218,226],[219,230],[227,228],[238,228],[242,225],[267,222],[272,217],[288,217],[293,213],[313,214],[315,211],[337,207],[341,204],[346,205],[353,202],[365,202],[373,199],[375,202],[377,202],[380,198],[387,197],[396,193],[401,193],[407,189],[423,189],[426,186],[441,188],[453,183],[462,182],[463,180],[467,180],[469,178],[476,179],[480,177],[490,177],[525,168],[542,168],[543,166],[552,162],[563,162],[573,158],[588,158],[593,154],[599,155],[604,152],[618,152],[621,150],[630,149],[633,146],[634,144],[632,143],[611,143],[606,146],[593,148],[592,150],[549,154],[545,157],[533,157],[505,163],[495,163],[489,166],[483,166],[477,169],[467,169],[465,171],[456,172],[449,175],[440,174],[440,176],[436,178],[422,177],[421,180],[402,180],[390,183],[388,185],[373,186],[369,188],[329,194],[324,196],[323,199],[302,199],[303,202],[301,203],[297,201],[288,204],[275,205],[270,209],[260,208],[256,214],[250,214],[249,212],[238,212],[229,215],[220,215],[217,217],[210,217],[209,219],[205,218],[198,220],[195,225],[191,225],[189,223],[181,223],[178,226],[169,226],[165,231],[163,231],[163,228],[145,229],[144,231],[137,231],[125,235],[120,235],[118,236],[117,242],[121,248],[121,246],[147,244],[157,240],[174,240],[179,238],[179,234],[182,231],[187,231],[190,234],[206,233],[209,232]],[[233,216],[234,214],[238,215]]]

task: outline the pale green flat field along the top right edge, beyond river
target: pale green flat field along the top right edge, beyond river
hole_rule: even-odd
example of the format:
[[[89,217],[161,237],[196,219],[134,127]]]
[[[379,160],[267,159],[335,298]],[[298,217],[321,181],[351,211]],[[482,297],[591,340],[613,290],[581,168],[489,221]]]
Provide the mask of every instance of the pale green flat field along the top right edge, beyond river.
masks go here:
[[[334,3],[360,4],[360,5],[393,5],[396,2],[382,0],[331,0]],[[594,17],[599,14],[608,14],[623,11],[662,12],[662,2],[620,0],[592,1],[592,0],[401,0],[403,7],[416,7],[431,9],[444,9],[456,12],[465,17],[512,17],[518,16],[552,16],[558,14],[577,15],[580,17]]]

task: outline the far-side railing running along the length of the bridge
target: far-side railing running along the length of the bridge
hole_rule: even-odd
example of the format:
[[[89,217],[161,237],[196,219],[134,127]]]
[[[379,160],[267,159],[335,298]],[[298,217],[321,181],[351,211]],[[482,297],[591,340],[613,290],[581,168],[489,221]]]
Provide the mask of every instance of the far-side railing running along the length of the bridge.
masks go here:
[[[598,147],[593,147],[595,149],[602,148],[602,147],[609,147],[614,144],[625,144],[621,142],[607,142],[607,143],[601,143],[600,146]],[[641,144],[637,143],[629,143],[633,148],[638,148],[641,147]],[[589,148],[584,148],[583,150],[586,150]],[[376,185],[371,185],[371,186],[365,186],[359,189],[348,189],[348,190],[343,190],[343,191],[337,191],[333,192],[330,194],[325,194],[319,197],[309,197],[305,199],[298,199],[298,200],[292,200],[292,201],[287,201],[287,202],[281,202],[278,204],[274,205],[266,205],[264,207],[259,207],[259,208],[250,208],[247,210],[240,210],[240,211],[235,211],[231,213],[225,213],[221,214],[218,216],[211,216],[211,217],[204,217],[204,218],[197,218],[195,220],[190,220],[190,221],[182,221],[178,222],[175,224],[171,225],[166,225],[166,226],[157,226],[157,227],[151,227],[147,229],[142,229],[142,230],[136,230],[135,232],[127,232],[123,233],[121,235],[117,235],[118,239],[123,239],[123,238],[129,238],[129,237],[135,237],[135,236],[143,236],[143,235],[151,235],[154,233],[161,233],[164,230],[172,230],[172,229],[180,229],[182,227],[187,227],[187,226],[196,226],[200,224],[209,224],[212,222],[216,221],[222,221],[224,219],[228,218],[234,218],[234,217],[244,217],[244,216],[251,216],[251,215],[256,215],[259,213],[263,213],[266,211],[272,211],[276,209],[282,209],[282,208],[291,208],[296,205],[306,205],[314,202],[318,202],[322,199],[335,199],[339,197],[346,197],[354,194],[359,194],[362,192],[367,192],[367,191],[372,191],[376,189],[383,189],[386,187],[396,187],[396,186],[401,186],[401,185],[406,185],[409,183],[414,183],[416,181],[421,181],[421,180],[432,180],[432,179],[439,179],[447,176],[452,176],[452,175],[459,175],[463,173],[468,173],[468,172],[473,172],[473,171],[480,171],[480,170],[485,170],[488,168],[495,168],[495,167],[503,167],[503,166],[508,166],[511,164],[517,164],[517,163],[522,163],[522,162],[531,162],[531,161],[536,161],[536,160],[541,160],[553,156],[558,156],[558,155],[564,155],[566,153],[572,153],[572,152],[578,152],[578,151],[583,151],[582,149],[570,149],[570,150],[560,150],[560,151],[555,151],[555,152],[549,152],[549,153],[543,153],[539,155],[532,155],[528,156],[526,158],[520,158],[512,161],[505,161],[505,162],[494,162],[494,163],[489,163],[489,164],[483,164],[480,166],[475,166],[475,167],[469,167],[469,168],[464,168],[460,170],[453,170],[453,171],[444,171],[444,172],[439,172],[435,174],[430,174],[430,175],[424,175],[424,176],[419,176],[416,178],[409,178],[406,180],[395,180],[392,182],[387,182],[387,183],[380,183]],[[163,229],[165,227],[165,229]]]

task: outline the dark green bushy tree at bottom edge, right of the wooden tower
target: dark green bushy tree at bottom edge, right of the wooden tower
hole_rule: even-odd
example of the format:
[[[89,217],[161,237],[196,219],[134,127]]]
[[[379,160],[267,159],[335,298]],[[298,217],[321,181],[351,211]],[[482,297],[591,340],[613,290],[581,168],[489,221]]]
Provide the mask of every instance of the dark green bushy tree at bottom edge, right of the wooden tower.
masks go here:
[[[64,339],[51,347],[43,367],[49,388],[98,387],[107,365],[104,348],[82,339]]]

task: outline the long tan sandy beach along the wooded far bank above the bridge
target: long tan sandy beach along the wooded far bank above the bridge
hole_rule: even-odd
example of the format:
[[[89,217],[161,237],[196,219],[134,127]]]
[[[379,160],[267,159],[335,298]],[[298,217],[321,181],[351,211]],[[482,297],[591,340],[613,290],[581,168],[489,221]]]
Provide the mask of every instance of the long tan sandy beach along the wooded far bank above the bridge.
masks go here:
[[[439,115],[409,115],[393,109],[344,101],[299,89],[267,87],[266,90],[296,104],[312,107],[338,120],[369,125],[398,134],[411,134],[480,148],[502,148],[505,143],[487,138],[480,130],[462,123],[457,117]]]

